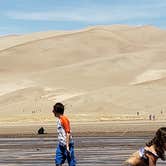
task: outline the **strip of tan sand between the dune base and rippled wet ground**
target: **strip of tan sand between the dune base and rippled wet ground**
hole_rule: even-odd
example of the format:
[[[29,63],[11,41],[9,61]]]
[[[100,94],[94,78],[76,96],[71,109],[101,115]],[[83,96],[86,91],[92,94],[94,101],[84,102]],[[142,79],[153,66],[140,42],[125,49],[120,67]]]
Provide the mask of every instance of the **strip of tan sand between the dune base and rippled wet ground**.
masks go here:
[[[104,135],[135,135],[144,136],[144,133],[154,133],[158,128],[165,126],[164,121],[109,121],[109,122],[75,122],[71,123],[72,132],[79,136]],[[56,122],[54,123],[9,123],[1,124],[0,136],[35,136],[40,127],[44,127],[48,135],[56,135]]]

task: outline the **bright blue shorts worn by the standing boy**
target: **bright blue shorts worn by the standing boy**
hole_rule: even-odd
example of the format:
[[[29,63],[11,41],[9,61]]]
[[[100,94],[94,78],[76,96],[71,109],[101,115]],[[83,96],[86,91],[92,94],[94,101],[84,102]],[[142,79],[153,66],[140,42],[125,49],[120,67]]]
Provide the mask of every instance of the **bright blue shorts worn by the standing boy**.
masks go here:
[[[70,154],[67,152],[66,146],[58,144],[56,149],[55,164],[64,164],[67,159],[69,166],[76,166],[76,160],[74,156],[74,143],[69,144]]]

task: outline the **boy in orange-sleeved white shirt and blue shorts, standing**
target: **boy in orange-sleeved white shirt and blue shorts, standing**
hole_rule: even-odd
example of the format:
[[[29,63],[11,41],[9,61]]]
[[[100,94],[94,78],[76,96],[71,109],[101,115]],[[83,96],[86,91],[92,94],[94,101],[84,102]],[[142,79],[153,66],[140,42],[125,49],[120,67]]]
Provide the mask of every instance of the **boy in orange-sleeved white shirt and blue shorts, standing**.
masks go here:
[[[55,155],[55,164],[56,166],[62,166],[67,159],[69,166],[76,166],[74,141],[71,135],[69,119],[64,115],[64,105],[62,103],[56,103],[53,106],[52,112],[54,116],[58,118],[58,145]]]

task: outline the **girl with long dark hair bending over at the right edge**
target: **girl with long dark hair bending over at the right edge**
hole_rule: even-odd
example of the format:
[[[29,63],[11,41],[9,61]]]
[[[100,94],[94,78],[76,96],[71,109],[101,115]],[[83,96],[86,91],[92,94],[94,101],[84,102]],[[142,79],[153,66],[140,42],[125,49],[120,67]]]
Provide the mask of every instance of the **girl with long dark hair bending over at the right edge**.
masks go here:
[[[145,147],[132,154],[124,166],[156,166],[157,160],[166,160],[166,127],[157,130],[154,138]]]

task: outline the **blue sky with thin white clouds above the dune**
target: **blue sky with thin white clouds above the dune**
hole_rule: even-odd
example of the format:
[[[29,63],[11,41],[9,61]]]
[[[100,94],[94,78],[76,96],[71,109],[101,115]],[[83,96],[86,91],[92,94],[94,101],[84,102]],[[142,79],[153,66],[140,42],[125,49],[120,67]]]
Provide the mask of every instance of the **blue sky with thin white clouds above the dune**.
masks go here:
[[[96,25],[166,29],[166,0],[0,0],[0,35]]]

